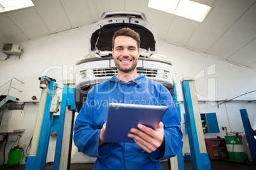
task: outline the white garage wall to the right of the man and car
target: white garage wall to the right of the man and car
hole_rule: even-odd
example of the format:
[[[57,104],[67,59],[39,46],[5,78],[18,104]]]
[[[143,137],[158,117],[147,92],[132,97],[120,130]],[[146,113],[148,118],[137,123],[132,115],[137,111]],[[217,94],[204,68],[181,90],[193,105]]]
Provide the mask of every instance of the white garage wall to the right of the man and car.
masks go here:
[[[232,63],[218,60],[214,56],[206,55],[191,49],[185,49],[164,41],[159,41],[159,53],[167,56],[173,63],[174,82],[178,93],[178,101],[183,101],[180,81],[183,77],[193,77],[196,79],[196,92],[201,113],[217,114],[220,133],[206,133],[204,138],[225,138],[225,131],[222,126],[227,127],[227,131],[243,132],[243,122],[239,110],[246,108],[253,129],[256,129],[255,102],[229,102],[222,103],[220,100],[230,100],[236,96],[243,95],[256,89],[255,70],[246,69]],[[249,93],[234,100],[255,100],[256,93]],[[220,101],[220,102],[213,102]],[[183,113],[185,113],[183,103],[181,103],[181,125],[183,131],[183,154],[190,152],[188,134],[185,134],[183,125]],[[246,140],[245,140],[246,142]],[[249,155],[248,147],[245,146],[246,154]]]

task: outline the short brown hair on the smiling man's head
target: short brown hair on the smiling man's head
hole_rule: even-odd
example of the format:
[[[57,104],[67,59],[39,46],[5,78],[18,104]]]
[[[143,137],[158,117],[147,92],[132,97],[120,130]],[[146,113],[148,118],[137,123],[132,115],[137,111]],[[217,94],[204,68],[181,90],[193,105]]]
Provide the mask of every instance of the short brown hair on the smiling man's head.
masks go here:
[[[139,38],[138,32],[135,32],[134,30],[129,29],[129,28],[123,28],[123,29],[117,30],[112,38],[112,48],[114,48],[114,46],[115,46],[115,39],[117,36],[132,37],[133,39],[135,39],[137,41],[137,46],[138,46],[138,50],[139,50],[141,39]]]

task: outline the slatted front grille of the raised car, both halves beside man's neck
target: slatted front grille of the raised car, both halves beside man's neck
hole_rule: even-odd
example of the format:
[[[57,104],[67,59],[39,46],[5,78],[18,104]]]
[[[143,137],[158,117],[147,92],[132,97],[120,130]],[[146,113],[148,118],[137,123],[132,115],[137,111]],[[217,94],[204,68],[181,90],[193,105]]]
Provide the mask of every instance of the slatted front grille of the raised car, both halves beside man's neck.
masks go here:
[[[108,77],[117,74],[117,69],[94,69],[92,70],[95,77]],[[156,77],[157,70],[137,69],[138,73],[143,73],[145,77]]]

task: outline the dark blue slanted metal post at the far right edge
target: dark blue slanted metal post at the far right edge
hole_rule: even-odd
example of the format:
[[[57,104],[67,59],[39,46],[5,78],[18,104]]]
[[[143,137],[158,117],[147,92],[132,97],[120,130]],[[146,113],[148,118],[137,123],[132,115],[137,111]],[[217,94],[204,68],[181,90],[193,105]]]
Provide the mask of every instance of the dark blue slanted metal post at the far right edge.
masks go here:
[[[252,155],[252,162],[253,164],[256,164],[256,140],[254,138],[254,136],[256,136],[256,131],[252,129],[246,109],[241,109],[240,114],[243,121],[243,128],[245,128],[247,143]]]

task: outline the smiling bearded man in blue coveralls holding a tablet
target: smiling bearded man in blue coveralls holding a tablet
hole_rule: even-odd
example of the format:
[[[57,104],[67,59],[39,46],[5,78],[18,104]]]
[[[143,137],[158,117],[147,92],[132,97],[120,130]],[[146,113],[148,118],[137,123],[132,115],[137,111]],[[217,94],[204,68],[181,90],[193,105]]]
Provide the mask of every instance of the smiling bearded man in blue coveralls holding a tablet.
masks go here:
[[[115,32],[112,55],[118,74],[95,85],[76,117],[74,142],[84,154],[97,157],[94,169],[162,169],[160,160],[174,157],[181,147],[181,125],[169,91],[159,82],[137,73],[139,34],[129,28]],[[111,90],[110,90],[111,89]],[[106,143],[108,107],[101,101],[167,105],[157,129],[142,124],[128,133],[134,143]],[[117,127],[118,128],[118,127]]]

